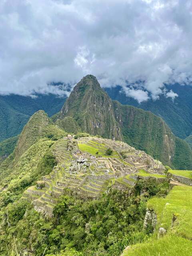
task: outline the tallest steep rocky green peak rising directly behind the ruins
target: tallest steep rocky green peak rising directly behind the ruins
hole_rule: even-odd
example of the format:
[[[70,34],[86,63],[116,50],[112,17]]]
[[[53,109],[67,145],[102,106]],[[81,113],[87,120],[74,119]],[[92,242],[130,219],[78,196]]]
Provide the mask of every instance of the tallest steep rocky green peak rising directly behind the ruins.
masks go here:
[[[66,100],[59,118],[71,116],[83,132],[122,140],[114,117],[112,100],[100,87],[95,76],[87,75],[76,84]]]

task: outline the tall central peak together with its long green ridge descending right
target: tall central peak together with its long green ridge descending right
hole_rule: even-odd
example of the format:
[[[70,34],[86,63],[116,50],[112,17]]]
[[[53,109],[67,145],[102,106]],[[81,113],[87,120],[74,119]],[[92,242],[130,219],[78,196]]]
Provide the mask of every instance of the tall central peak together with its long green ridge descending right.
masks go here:
[[[66,100],[58,119],[70,116],[83,132],[123,140],[178,169],[192,167],[188,144],[174,136],[162,118],[110,99],[97,79],[85,76]]]

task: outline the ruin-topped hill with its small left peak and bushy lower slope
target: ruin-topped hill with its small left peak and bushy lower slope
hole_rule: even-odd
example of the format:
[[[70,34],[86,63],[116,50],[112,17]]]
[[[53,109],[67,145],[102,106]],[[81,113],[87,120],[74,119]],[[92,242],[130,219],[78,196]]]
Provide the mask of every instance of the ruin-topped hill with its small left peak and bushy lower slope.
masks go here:
[[[80,250],[84,251],[84,255],[94,255],[95,249],[101,250],[103,255],[110,250],[120,253],[124,243],[122,236],[117,235],[122,245],[116,244],[110,249],[107,249],[107,237],[112,230],[115,235],[118,226],[123,223],[124,214],[128,214],[127,207],[131,205],[135,210],[128,214],[129,221],[124,232],[127,232],[130,222],[135,223],[132,231],[141,229],[144,212],[139,210],[142,202],[135,200],[134,187],[143,173],[144,176],[162,178],[164,186],[167,186],[164,166],[145,152],[123,142],[81,136],[84,134],[78,134],[76,138],[66,137],[66,133],[54,126],[43,111],[36,112],[24,127],[13,154],[0,165],[2,256],[17,251],[21,255],[42,256],[45,249],[46,253],[54,253],[67,244],[66,253],[78,253],[76,250]],[[108,148],[112,152],[106,154]],[[140,168],[143,168],[142,172]],[[154,182],[158,186],[158,182]],[[158,191],[161,190],[159,186]],[[130,193],[133,193],[131,197]],[[128,197],[130,200],[125,201]],[[108,205],[109,200],[112,205],[116,200],[119,206],[122,204],[118,214]],[[88,213],[86,220],[82,216],[83,211]],[[101,225],[94,217],[95,212],[97,218],[103,218],[102,226],[106,226],[106,234],[101,228],[100,235],[94,233],[94,225]],[[103,217],[104,212],[111,217]],[[71,214],[76,218],[74,226]],[[140,214],[141,220],[136,220],[136,215]],[[110,218],[116,218],[117,224],[113,224],[113,228]],[[90,223],[90,227],[84,221]],[[64,231],[60,229],[62,226],[66,230],[65,242]],[[91,240],[86,230],[92,233]],[[68,239],[73,241],[73,245],[70,246]],[[86,239],[87,246],[80,242],[82,239]],[[99,246],[98,239],[103,240],[105,246]]]

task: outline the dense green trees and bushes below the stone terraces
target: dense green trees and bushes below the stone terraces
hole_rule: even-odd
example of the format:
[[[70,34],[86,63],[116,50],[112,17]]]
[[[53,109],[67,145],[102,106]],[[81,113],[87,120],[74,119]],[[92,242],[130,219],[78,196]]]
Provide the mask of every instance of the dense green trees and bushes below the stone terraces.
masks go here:
[[[39,169],[40,170],[40,169]],[[140,197],[141,190],[146,193]],[[117,256],[124,246],[148,237],[142,231],[146,202],[165,195],[168,184],[140,181],[130,196],[111,190],[98,200],[82,201],[65,195],[54,210],[54,218],[44,219],[26,202],[16,201],[0,211],[0,255],[14,250],[25,255]],[[68,253],[68,254],[67,254]],[[27,254],[26,254],[27,255]],[[56,254],[57,255],[57,254]]]

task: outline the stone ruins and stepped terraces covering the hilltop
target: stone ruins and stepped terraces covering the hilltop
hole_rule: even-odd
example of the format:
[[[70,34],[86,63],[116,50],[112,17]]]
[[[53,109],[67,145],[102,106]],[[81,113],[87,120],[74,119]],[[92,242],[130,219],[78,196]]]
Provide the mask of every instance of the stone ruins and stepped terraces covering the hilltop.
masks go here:
[[[97,157],[81,151],[80,144],[96,148],[102,154]],[[112,156],[105,156],[107,148]],[[124,142],[97,137],[75,140],[71,136],[58,140],[52,147],[58,162],[49,175],[42,176],[36,186],[28,188],[22,200],[31,201],[38,212],[53,215],[53,209],[63,194],[74,194],[82,199],[98,198],[110,188],[131,192],[139,169],[151,174],[164,174],[164,166],[151,156],[135,150]]]

